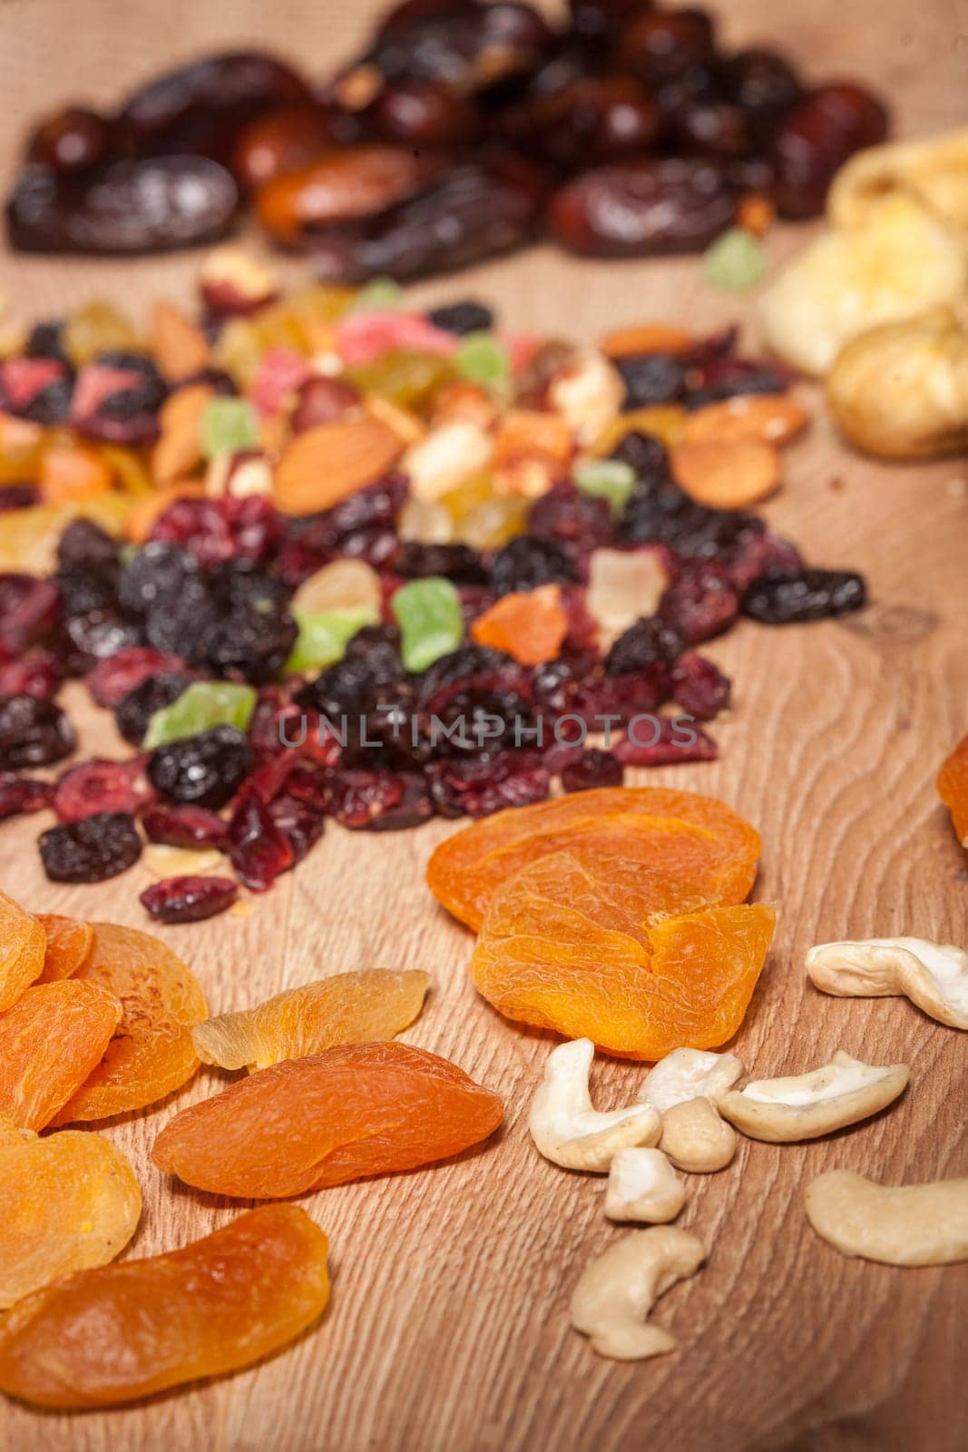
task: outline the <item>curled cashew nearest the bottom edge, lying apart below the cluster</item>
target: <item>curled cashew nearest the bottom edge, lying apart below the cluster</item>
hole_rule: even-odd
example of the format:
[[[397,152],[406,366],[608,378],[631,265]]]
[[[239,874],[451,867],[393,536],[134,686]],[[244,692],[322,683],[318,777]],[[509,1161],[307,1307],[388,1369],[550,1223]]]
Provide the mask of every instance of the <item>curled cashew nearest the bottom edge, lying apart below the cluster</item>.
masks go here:
[[[650,1326],[646,1317],[663,1291],[695,1275],[704,1260],[702,1241],[688,1230],[633,1230],[582,1272],[572,1292],[572,1326],[591,1336],[599,1356],[662,1356],[673,1349],[675,1336]]]

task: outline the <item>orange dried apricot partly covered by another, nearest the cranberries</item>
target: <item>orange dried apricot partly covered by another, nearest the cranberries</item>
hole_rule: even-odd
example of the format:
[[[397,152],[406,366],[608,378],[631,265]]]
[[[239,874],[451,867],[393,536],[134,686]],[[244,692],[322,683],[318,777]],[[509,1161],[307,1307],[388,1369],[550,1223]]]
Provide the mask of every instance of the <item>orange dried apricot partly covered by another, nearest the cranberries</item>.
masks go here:
[[[454,918],[479,928],[505,878],[572,847],[627,857],[739,903],[753,886],[760,839],[715,797],[670,787],[604,787],[472,823],[441,842],[427,883]]]

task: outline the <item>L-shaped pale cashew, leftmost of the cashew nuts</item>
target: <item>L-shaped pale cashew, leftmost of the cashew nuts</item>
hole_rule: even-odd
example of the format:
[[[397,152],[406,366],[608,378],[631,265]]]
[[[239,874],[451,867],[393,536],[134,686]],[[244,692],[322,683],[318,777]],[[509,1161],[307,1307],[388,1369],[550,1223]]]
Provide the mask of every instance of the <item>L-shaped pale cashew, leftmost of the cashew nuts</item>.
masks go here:
[[[605,1114],[595,1109],[588,1092],[594,1057],[591,1038],[575,1038],[551,1050],[531,1101],[528,1128],[546,1160],[567,1170],[604,1173],[617,1150],[656,1144],[662,1119],[643,1104]]]

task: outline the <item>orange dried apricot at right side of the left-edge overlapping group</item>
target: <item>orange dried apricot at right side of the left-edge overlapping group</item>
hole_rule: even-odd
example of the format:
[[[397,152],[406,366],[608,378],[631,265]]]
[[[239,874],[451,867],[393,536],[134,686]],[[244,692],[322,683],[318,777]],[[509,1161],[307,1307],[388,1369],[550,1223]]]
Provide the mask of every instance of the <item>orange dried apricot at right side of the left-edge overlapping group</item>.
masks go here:
[[[192,1027],[206,1015],[190,968],[136,928],[91,923],[94,942],[77,980],[120,999],[123,1013],[102,1063],[58,1114],[57,1124],[142,1109],[179,1089],[197,1069]]]

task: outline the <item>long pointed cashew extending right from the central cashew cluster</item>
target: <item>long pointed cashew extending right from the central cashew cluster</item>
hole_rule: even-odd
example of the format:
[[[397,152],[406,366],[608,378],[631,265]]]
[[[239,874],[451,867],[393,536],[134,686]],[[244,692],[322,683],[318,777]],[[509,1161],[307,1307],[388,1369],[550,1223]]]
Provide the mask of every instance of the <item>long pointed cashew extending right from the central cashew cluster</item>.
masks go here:
[[[720,1114],[752,1140],[816,1140],[884,1109],[903,1092],[907,1064],[865,1064],[842,1048],[807,1074],[753,1079],[720,1099]]]

